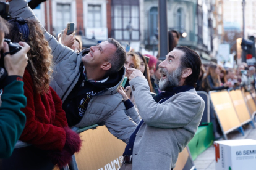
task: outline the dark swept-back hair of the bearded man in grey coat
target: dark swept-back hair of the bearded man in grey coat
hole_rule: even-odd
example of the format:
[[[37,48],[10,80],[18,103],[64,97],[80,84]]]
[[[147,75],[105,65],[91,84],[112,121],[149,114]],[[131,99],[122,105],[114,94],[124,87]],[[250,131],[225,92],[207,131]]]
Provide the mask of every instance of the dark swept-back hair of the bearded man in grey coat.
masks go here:
[[[178,46],[174,49],[184,52],[184,55],[181,57],[181,67],[192,69],[192,74],[186,78],[184,84],[196,87],[202,65],[199,55],[189,47]]]

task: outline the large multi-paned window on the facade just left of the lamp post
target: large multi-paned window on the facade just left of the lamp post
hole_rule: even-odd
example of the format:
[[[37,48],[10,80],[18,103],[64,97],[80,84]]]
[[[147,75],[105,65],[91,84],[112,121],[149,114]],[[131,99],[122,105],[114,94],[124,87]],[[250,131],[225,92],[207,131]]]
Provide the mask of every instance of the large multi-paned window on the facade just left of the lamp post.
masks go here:
[[[139,0],[113,0],[112,36],[117,40],[139,40],[139,16]]]

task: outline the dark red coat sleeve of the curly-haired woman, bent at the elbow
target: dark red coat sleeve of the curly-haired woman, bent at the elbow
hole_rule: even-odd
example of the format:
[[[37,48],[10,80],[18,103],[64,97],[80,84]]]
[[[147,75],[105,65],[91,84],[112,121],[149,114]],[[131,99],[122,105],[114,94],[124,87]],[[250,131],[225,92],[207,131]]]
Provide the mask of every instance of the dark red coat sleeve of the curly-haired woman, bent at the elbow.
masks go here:
[[[35,103],[40,105],[40,108],[44,107],[41,107],[43,103],[40,100],[35,99],[37,94],[35,94],[32,78],[27,70],[25,70],[23,81],[25,83],[24,94],[27,97],[27,107],[23,108],[22,111],[27,116],[27,122],[20,140],[43,150],[62,150],[66,142],[66,132],[62,127],[40,122],[47,119],[44,116],[47,113],[45,113],[46,109],[41,109],[35,113]]]

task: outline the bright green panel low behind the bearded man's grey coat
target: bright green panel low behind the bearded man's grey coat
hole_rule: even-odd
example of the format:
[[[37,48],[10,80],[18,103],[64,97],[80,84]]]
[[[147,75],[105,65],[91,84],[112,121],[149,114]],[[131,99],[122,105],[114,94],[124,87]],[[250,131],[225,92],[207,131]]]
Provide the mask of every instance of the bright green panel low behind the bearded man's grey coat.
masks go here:
[[[198,127],[195,136],[188,144],[192,159],[195,160],[200,153],[210,147],[213,144],[213,140],[214,136],[212,123]]]

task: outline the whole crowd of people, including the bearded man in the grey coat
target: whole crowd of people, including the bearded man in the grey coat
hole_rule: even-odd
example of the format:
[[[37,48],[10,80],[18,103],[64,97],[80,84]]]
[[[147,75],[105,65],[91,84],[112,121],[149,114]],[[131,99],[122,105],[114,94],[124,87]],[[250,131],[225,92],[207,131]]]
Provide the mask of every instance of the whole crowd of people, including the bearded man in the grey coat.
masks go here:
[[[51,36],[27,1],[9,3],[12,19],[0,18],[1,71],[8,73],[0,76],[1,158],[21,140],[63,168],[82,145],[72,127],[99,124],[127,144],[121,169],[173,169],[202,118],[205,102],[196,90],[255,85],[255,67],[203,66],[196,52],[177,46],[177,31],[168,33],[163,61],[126,52],[113,38],[82,50],[75,33]],[[10,55],[4,38],[22,50]]]

